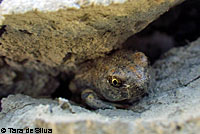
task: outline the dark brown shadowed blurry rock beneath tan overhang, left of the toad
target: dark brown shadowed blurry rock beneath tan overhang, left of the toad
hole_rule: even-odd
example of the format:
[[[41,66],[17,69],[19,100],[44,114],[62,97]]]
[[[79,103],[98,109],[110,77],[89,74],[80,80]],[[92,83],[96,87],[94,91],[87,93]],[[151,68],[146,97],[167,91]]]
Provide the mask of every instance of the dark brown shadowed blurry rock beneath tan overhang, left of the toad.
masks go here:
[[[15,93],[49,96],[59,86],[58,75],[56,68],[39,61],[14,62],[0,56],[0,98]]]

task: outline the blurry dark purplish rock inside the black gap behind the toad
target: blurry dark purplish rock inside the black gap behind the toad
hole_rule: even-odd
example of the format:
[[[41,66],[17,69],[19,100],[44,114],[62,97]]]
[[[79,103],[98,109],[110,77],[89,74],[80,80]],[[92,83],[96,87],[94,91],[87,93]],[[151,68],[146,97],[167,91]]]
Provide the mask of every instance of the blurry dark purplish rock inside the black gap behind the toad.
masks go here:
[[[143,32],[140,33],[142,34]],[[151,60],[150,62],[154,62],[161,56],[161,54],[165,53],[170,48],[175,47],[175,44],[176,43],[172,36],[154,31],[151,34],[142,37],[134,35],[124,43],[124,46],[128,49],[145,53],[145,55]]]

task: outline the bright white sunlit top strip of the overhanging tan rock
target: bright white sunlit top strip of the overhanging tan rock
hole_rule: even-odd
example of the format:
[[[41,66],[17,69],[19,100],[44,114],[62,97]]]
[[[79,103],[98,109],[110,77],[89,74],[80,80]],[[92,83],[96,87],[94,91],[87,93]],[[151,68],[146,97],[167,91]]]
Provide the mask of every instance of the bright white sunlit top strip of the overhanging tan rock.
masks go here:
[[[110,4],[124,3],[127,0],[1,0],[1,13],[12,14],[12,13],[25,13],[32,10],[38,11],[57,11],[63,8],[77,8],[81,6],[89,5],[103,5],[109,6]],[[1,3],[0,1],[0,3]]]

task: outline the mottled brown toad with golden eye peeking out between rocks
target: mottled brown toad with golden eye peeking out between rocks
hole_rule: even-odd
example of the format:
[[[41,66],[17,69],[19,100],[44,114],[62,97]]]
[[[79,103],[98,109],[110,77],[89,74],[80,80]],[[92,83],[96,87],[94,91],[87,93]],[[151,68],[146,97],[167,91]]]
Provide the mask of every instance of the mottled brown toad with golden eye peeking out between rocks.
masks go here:
[[[148,83],[147,57],[120,50],[80,66],[70,89],[93,109],[124,108],[147,92]]]

